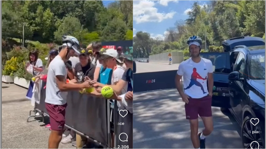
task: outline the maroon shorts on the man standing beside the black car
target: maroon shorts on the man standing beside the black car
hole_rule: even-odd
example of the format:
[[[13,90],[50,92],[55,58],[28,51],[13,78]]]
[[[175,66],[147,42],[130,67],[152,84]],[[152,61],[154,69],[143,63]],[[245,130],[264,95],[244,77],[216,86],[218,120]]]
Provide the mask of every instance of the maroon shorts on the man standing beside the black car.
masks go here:
[[[211,114],[211,97],[209,95],[202,98],[189,97],[188,104],[185,104],[186,119],[194,120],[200,117],[210,117]]]

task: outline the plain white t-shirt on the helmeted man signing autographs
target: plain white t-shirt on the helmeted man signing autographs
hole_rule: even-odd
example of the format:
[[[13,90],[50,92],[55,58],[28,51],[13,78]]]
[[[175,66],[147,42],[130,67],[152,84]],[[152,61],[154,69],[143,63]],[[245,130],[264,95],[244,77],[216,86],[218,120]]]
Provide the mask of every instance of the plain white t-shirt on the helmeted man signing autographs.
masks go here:
[[[49,64],[46,82],[46,97],[45,102],[56,105],[66,104],[68,92],[61,92],[56,84],[56,76],[65,76],[66,67],[62,58],[57,55]]]

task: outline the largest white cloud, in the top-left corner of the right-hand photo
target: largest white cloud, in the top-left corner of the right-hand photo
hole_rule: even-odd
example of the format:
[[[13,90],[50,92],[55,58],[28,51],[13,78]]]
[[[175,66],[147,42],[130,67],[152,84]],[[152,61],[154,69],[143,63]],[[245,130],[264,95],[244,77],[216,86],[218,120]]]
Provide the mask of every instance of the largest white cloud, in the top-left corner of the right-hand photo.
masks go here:
[[[144,22],[161,22],[165,19],[172,19],[176,12],[159,13],[154,7],[153,1],[133,1],[133,20],[137,24]]]

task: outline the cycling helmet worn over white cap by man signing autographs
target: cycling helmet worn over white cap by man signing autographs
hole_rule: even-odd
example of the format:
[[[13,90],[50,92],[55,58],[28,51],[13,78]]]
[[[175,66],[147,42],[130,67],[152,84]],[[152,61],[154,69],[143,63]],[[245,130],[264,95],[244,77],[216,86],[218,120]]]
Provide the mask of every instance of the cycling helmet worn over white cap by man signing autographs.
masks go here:
[[[63,36],[62,43],[63,43],[63,46],[68,46],[69,48],[72,48],[75,51],[76,55],[80,54],[80,52],[78,51],[80,44],[77,38],[73,36]]]

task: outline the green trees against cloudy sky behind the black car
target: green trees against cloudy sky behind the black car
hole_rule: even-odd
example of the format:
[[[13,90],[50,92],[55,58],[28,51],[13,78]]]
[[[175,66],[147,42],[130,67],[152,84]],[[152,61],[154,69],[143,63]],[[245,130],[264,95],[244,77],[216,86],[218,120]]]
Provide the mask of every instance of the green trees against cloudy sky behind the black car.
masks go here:
[[[209,51],[222,50],[222,41],[232,37],[265,38],[265,1],[210,1],[204,6],[195,2],[191,9],[188,19],[177,20],[167,29],[164,40],[137,32],[133,38],[134,58],[180,50],[188,53],[186,42],[193,35],[200,36],[202,49]]]

